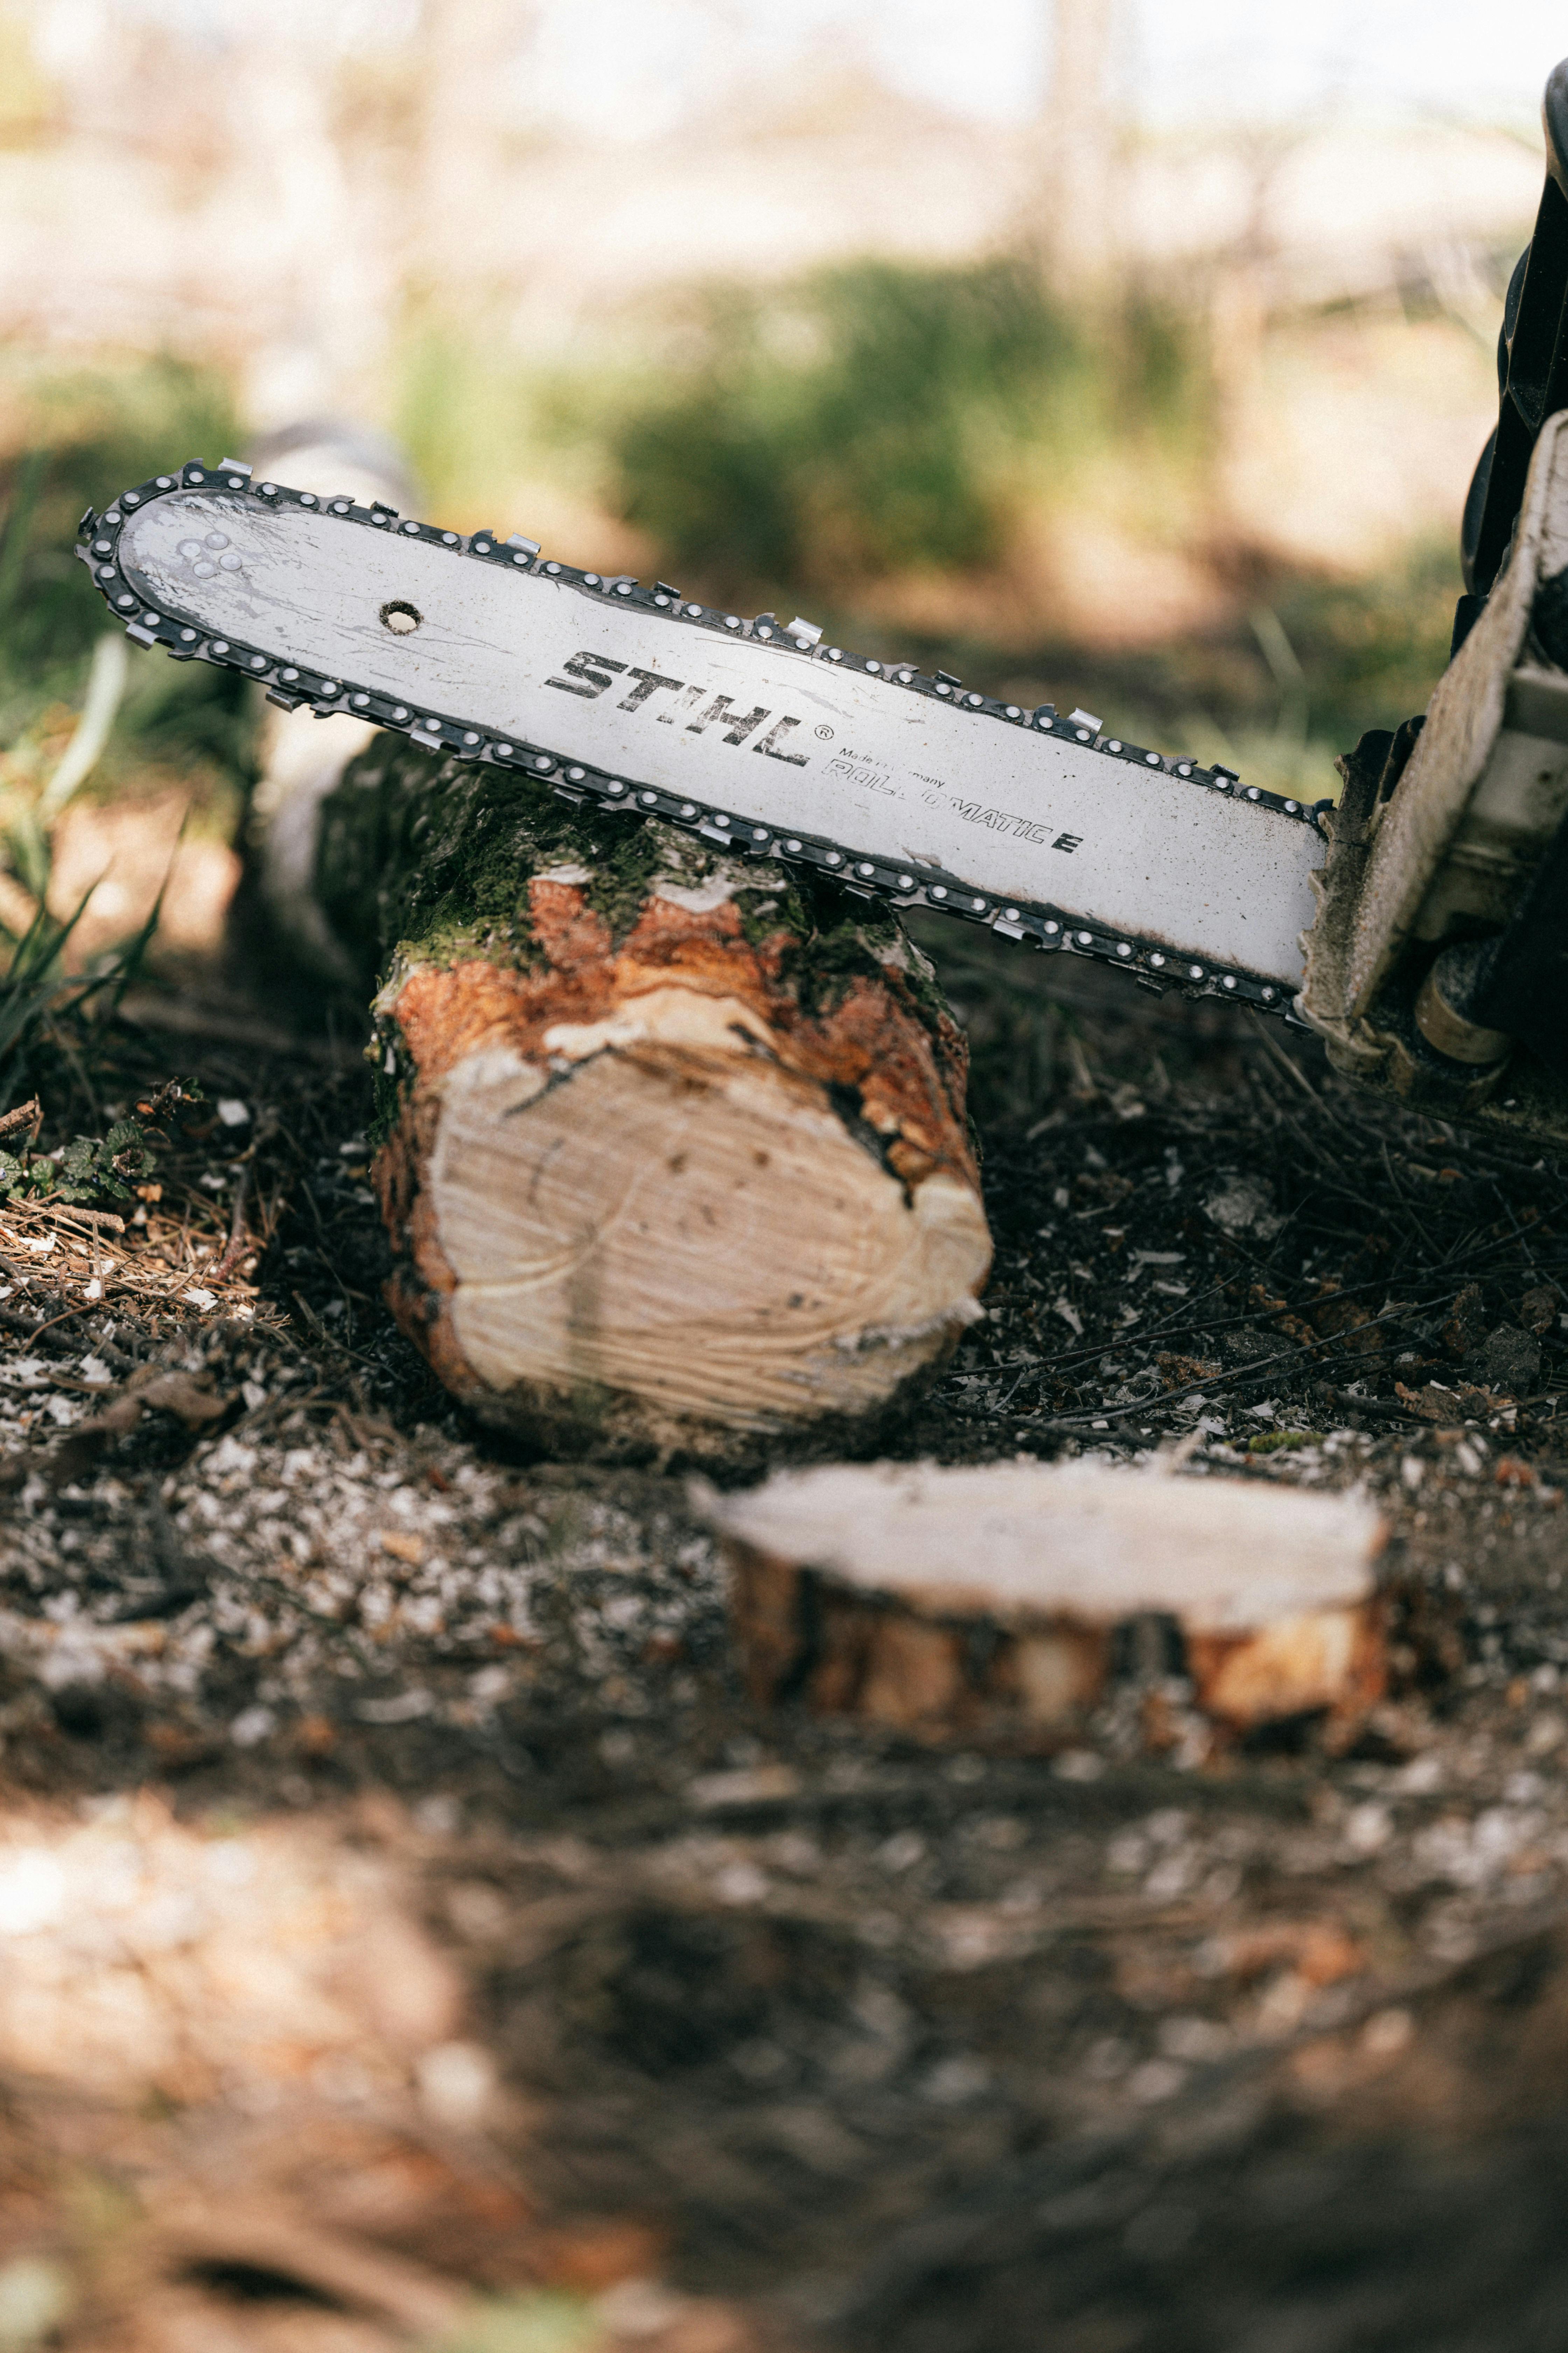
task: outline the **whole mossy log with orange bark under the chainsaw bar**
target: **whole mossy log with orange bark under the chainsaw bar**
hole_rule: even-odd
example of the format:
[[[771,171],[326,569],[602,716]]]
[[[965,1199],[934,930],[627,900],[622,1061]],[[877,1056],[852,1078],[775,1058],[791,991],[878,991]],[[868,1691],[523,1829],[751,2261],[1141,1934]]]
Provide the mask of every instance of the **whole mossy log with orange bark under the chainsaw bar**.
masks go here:
[[[313,920],[378,984],[388,1299],[442,1381],[555,1449],[863,1445],[990,1264],[900,927],[393,736],[315,807]]]

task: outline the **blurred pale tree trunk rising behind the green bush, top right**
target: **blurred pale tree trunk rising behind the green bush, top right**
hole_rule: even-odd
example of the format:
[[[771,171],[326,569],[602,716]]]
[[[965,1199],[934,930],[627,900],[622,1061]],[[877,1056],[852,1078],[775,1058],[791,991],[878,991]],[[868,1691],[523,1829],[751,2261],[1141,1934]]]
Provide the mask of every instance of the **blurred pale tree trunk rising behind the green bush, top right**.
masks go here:
[[[1046,275],[1070,301],[1093,299],[1119,247],[1114,92],[1117,0],[1051,0],[1051,89],[1041,120],[1039,245]]]

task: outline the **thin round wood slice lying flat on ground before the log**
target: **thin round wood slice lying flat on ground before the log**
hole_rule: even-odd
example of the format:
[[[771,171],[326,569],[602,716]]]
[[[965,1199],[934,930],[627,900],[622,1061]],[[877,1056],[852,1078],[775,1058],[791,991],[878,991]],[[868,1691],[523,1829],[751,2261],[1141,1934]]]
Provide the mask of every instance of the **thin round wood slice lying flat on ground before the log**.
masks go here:
[[[1100,1464],[780,1471],[698,1482],[752,1699],[933,1741],[1053,1748],[1107,1697],[1117,1635],[1175,1631],[1215,1725],[1385,1689],[1378,1513],[1352,1497]]]

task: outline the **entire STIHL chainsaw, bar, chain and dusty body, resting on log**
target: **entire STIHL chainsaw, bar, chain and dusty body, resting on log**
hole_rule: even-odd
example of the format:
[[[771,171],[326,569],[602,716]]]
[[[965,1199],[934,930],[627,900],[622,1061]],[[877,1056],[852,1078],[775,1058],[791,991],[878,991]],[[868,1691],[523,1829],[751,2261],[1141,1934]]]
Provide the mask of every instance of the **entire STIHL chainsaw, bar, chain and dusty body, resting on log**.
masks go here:
[[[1450,666],[1338,800],[235,459],[89,508],[78,555],[136,645],[284,711],[1276,1014],[1363,1085],[1568,1144],[1568,61],[1544,127]]]

